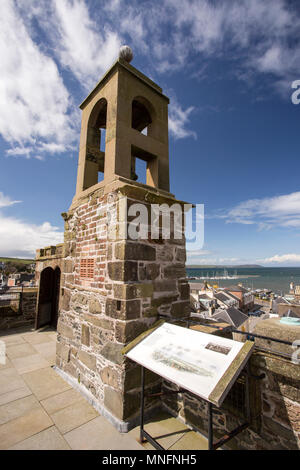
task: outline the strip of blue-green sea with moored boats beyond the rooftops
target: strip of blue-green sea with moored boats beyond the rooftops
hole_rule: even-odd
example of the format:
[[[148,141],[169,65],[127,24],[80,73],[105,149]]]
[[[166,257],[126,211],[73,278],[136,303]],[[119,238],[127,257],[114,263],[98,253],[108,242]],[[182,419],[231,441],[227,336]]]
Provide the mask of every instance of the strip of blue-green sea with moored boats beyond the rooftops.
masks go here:
[[[225,276],[224,276],[225,269]],[[289,293],[290,282],[300,285],[300,267],[288,268],[191,268],[186,269],[188,277],[196,277],[195,282],[204,282],[207,278],[211,284],[218,284],[219,287],[227,287],[233,284],[242,283],[244,287],[251,289],[269,289],[276,294],[284,295]],[[226,274],[228,274],[226,278]],[[216,279],[219,278],[219,279]]]

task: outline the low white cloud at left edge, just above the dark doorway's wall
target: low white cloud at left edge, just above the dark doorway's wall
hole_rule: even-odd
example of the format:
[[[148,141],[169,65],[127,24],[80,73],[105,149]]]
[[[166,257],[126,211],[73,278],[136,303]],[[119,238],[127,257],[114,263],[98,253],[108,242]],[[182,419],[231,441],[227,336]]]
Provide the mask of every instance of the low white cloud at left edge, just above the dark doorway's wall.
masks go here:
[[[1,256],[33,257],[37,248],[62,243],[63,232],[49,222],[41,225],[0,213]]]

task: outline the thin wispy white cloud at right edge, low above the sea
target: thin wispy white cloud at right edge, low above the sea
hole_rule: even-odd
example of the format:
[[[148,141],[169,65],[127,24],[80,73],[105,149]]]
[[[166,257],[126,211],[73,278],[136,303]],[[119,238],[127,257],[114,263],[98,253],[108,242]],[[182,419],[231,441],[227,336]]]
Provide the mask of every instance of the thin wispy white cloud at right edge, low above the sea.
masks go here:
[[[262,199],[249,199],[230,210],[221,211],[217,218],[227,223],[257,224],[260,229],[300,227],[300,191]]]

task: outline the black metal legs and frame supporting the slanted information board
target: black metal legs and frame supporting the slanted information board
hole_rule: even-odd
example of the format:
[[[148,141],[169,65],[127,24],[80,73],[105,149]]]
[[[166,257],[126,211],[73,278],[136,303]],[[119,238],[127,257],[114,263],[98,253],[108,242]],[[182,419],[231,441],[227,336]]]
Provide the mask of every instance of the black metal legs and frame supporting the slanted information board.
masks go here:
[[[237,434],[240,432],[244,431],[246,428],[250,426],[250,395],[249,395],[249,377],[253,377],[255,379],[262,379],[262,376],[254,376],[253,374],[250,373],[249,370],[249,365],[247,364],[245,367],[245,372],[243,371],[242,373],[245,373],[246,376],[246,381],[245,381],[245,402],[246,402],[246,415],[247,415],[247,421],[243,423],[242,425],[238,426],[237,428],[233,429],[232,431],[228,432],[225,434],[223,437],[221,437],[218,441],[214,442],[213,441],[213,404],[207,400],[206,403],[208,404],[208,430],[207,430],[207,435],[208,435],[208,450],[217,450],[219,447],[222,445],[226,444],[229,440],[231,440],[233,437],[235,437]],[[176,391],[170,391],[170,392],[160,392],[156,394],[150,394],[148,395],[150,398],[162,396],[162,395],[168,395],[168,394],[179,394],[179,393],[189,393],[188,390],[184,390],[180,388],[179,390]],[[151,436],[147,431],[144,429],[144,411],[145,411],[145,368],[141,366],[141,417],[140,417],[140,442],[145,442],[147,440],[150,442],[150,444],[153,445],[153,447],[157,450],[166,450],[164,449],[157,440]]]

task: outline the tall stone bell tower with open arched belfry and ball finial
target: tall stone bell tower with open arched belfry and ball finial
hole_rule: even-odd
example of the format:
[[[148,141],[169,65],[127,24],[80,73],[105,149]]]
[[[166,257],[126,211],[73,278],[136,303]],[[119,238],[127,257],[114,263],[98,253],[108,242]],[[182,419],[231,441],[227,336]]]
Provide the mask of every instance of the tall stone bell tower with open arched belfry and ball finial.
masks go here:
[[[131,239],[126,230],[133,204],[149,213],[152,204],[183,205],[169,192],[169,100],[130,65],[131,55],[121,48],[80,106],[76,194],[63,214],[57,340],[57,369],[121,431],[138,416],[140,385],[140,370],[122,348],[159,313],[189,313],[184,237],[171,231],[169,239],[152,239],[150,222],[146,238]],[[146,184],[137,181],[136,159],[145,162]],[[147,384],[157,390],[160,379],[149,374]]]

